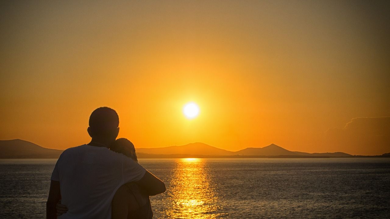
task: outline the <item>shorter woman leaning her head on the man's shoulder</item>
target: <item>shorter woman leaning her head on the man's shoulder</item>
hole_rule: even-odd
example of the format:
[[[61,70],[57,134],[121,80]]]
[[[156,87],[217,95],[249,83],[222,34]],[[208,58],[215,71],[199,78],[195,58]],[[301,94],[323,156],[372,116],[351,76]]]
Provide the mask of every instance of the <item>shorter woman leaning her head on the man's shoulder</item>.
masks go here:
[[[110,150],[121,153],[138,162],[135,148],[131,141],[119,138],[111,145]],[[116,191],[112,199],[112,219],[151,219],[153,217],[149,195],[135,182],[128,182]],[[57,215],[67,212],[67,207],[57,203]]]

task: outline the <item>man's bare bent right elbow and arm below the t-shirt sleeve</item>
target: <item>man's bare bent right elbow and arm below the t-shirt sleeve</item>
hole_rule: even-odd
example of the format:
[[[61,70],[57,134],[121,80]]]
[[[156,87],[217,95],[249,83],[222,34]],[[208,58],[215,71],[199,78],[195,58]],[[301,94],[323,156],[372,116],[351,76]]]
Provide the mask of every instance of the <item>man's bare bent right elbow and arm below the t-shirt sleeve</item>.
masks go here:
[[[145,171],[144,177],[142,177],[135,183],[137,183],[142,189],[144,189],[149,196],[154,196],[156,194],[163,193],[166,190],[164,182],[154,176],[149,171]]]

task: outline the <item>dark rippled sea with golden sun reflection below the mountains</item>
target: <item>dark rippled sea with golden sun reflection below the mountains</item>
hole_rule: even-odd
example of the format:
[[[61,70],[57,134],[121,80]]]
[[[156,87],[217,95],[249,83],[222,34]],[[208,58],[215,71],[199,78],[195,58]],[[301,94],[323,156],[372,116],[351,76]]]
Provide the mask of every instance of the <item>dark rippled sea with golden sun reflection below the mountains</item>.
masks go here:
[[[0,218],[44,218],[57,159],[0,159]],[[390,158],[139,159],[156,219],[390,218]]]

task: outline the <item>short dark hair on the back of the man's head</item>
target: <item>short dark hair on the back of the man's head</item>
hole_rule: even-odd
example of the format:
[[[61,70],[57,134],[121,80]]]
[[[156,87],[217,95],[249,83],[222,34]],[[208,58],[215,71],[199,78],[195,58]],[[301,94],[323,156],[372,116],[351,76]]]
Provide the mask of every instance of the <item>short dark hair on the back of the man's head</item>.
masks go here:
[[[108,134],[118,126],[118,113],[106,106],[95,109],[89,117],[89,127],[97,135]]]

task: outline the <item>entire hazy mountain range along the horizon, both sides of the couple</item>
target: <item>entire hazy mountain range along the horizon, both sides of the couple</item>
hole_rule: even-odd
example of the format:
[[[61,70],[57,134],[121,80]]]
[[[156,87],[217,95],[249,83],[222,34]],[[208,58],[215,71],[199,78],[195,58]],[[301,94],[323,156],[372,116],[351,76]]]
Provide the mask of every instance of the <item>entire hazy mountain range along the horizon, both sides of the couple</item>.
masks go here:
[[[39,145],[20,139],[0,140],[0,158],[58,158],[63,150],[43,148]],[[205,143],[190,143],[181,146],[161,148],[136,148],[140,158],[180,158],[180,157],[351,157],[343,152],[305,153],[289,151],[271,144],[262,148],[245,148],[236,152],[216,148]],[[386,155],[386,154],[383,154]],[[383,156],[382,155],[382,156]],[[379,155],[381,156],[381,155]]]

